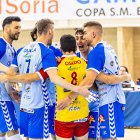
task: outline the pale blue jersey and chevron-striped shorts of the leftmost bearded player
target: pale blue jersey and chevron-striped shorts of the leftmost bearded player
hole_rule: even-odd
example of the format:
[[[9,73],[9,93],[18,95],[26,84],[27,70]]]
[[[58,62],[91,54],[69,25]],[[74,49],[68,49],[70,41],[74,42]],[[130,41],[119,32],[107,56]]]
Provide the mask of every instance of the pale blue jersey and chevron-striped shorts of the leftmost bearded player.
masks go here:
[[[15,49],[6,40],[0,38],[0,62],[9,67],[15,55]],[[2,133],[18,130],[15,108],[3,83],[0,83],[0,116],[0,131]]]

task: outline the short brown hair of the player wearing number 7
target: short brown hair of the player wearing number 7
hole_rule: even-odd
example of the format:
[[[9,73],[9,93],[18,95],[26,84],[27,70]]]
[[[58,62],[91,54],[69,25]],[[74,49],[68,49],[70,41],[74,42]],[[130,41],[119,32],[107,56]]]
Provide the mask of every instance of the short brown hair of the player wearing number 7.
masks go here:
[[[54,24],[54,22],[50,19],[41,19],[37,22],[37,33],[43,34],[47,33],[48,29],[51,27],[50,25]]]

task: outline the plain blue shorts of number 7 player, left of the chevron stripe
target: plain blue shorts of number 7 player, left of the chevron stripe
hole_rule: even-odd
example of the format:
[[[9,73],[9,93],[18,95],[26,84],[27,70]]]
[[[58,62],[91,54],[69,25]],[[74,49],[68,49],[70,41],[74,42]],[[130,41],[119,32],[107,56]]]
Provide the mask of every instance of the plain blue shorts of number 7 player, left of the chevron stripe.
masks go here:
[[[44,107],[20,111],[20,134],[29,138],[43,138]]]

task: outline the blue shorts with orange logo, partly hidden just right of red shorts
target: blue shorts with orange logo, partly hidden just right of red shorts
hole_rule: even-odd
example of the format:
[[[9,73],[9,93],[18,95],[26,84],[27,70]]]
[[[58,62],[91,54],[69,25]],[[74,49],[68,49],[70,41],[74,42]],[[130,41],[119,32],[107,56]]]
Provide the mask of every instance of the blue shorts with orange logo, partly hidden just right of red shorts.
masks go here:
[[[99,139],[99,137],[100,137],[99,112],[90,112],[88,138]]]

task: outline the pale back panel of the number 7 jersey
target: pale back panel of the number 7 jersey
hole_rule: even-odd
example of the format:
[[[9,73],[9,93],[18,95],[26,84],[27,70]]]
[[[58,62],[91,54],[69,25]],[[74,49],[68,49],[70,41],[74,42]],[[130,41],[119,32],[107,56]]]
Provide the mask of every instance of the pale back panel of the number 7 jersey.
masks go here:
[[[43,51],[47,51],[47,48],[44,49],[44,47],[45,46],[42,43],[35,42],[25,46],[18,52],[17,65],[20,74],[34,73],[43,67],[42,53]],[[41,108],[42,106],[44,106],[44,101],[41,81],[34,81],[31,84],[23,84],[21,108],[35,109]]]

